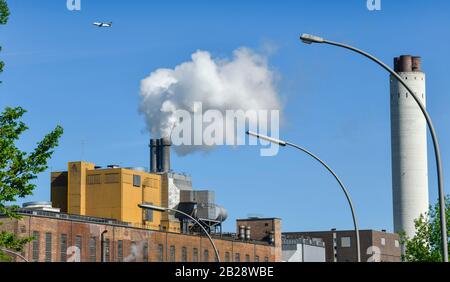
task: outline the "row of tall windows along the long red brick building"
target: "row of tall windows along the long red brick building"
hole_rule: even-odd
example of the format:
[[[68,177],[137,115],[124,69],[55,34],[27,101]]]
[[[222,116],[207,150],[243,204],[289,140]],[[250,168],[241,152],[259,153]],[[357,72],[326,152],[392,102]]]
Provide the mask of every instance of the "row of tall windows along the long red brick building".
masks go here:
[[[33,232],[33,243],[32,243],[32,260],[33,261],[39,261],[39,242],[40,242],[40,234],[37,231]],[[131,242],[132,250],[137,248],[135,242]],[[89,238],[89,261],[95,262],[97,259],[97,237],[91,236]],[[60,254],[60,261],[66,262],[68,261],[67,253],[70,253],[71,261],[80,261],[82,257],[83,252],[83,244],[82,244],[82,237],[80,235],[75,236],[75,248],[73,249],[73,252],[68,251],[68,244],[67,244],[67,234],[60,234],[60,240],[59,240],[59,254]],[[73,254],[72,254],[73,253]],[[148,243],[145,242],[142,245],[142,259],[144,262],[148,261]],[[211,254],[212,258],[214,258],[217,261],[217,258],[215,256],[215,253]],[[104,258],[106,262],[111,261],[110,256],[110,240],[105,239],[104,242]],[[169,262],[175,262],[176,261],[176,248],[174,245],[171,245],[169,247],[169,256],[168,261]],[[199,250],[198,248],[192,248],[192,261],[198,262],[199,261]],[[205,249],[203,251],[203,261],[208,262],[210,261],[210,253],[208,249]],[[241,261],[241,254],[235,253],[234,254],[234,262],[240,262]],[[124,247],[123,247],[123,241],[118,240],[117,241],[117,261],[122,262],[124,260]],[[158,260],[160,262],[164,261],[164,245],[159,244],[158,245]],[[52,233],[45,233],[45,261],[51,262],[52,261]],[[182,247],[181,248],[181,261],[187,262],[188,261],[188,248]],[[231,261],[231,255],[230,252],[225,252],[225,262]],[[259,256],[255,256],[255,262],[259,262]],[[268,262],[269,258],[266,256],[264,257],[264,262]],[[245,262],[250,262],[250,255],[245,255]]]

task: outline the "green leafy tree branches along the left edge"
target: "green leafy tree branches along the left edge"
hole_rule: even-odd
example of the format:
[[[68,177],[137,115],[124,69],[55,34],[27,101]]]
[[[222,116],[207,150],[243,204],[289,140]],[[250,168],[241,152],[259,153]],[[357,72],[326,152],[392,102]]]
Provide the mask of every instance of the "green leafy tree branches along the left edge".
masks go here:
[[[9,10],[6,1],[0,0],[0,24],[6,24]],[[4,64],[0,61],[0,72]],[[47,161],[58,145],[63,129],[57,126],[47,134],[36,148],[26,153],[17,148],[20,135],[28,129],[21,121],[25,110],[7,107],[0,114],[0,215],[7,218],[20,218],[17,206],[9,205],[17,200],[32,195],[36,185],[31,183],[37,175],[47,169]],[[1,222],[0,222],[1,224]],[[0,232],[0,261],[8,261],[10,256],[1,251],[6,248],[20,252],[32,238],[19,238],[14,233]]]

